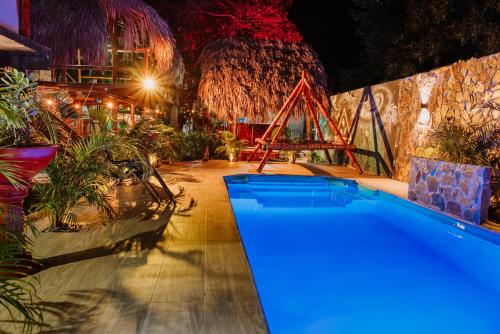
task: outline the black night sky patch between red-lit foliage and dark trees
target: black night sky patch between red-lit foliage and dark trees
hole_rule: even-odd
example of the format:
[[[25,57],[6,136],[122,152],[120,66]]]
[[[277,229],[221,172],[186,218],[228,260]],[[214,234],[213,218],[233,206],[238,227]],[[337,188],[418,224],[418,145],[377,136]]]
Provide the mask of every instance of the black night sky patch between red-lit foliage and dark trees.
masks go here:
[[[304,42],[318,52],[331,80],[338,78],[341,69],[356,67],[362,59],[355,23],[351,18],[350,0],[335,1],[294,0],[290,19],[304,34]],[[336,82],[332,81],[332,86]]]

